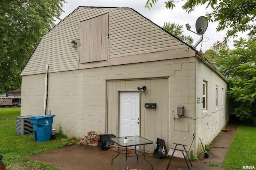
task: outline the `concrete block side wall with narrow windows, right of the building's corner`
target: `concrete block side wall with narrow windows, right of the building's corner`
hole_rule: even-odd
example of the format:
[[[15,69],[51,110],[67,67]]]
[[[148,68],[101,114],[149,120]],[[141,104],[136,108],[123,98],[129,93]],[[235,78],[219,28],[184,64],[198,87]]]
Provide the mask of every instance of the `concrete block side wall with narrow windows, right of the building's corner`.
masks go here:
[[[221,129],[228,123],[228,100],[226,98],[227,83],[212,69],[209,69],[202,61],[197,59],[196,64],[196,97],[202,97],[203,81],[206,82],[206,109],[203,110],[202,102],[196,104],[196,152],[202,151],[203,144],[210,142],[218,135]],[[215,104],[215,91],[218,87],[218,106]],[[222,89],[224,96],[222,96]],[[223,101],[223,105],[222,105]]]

